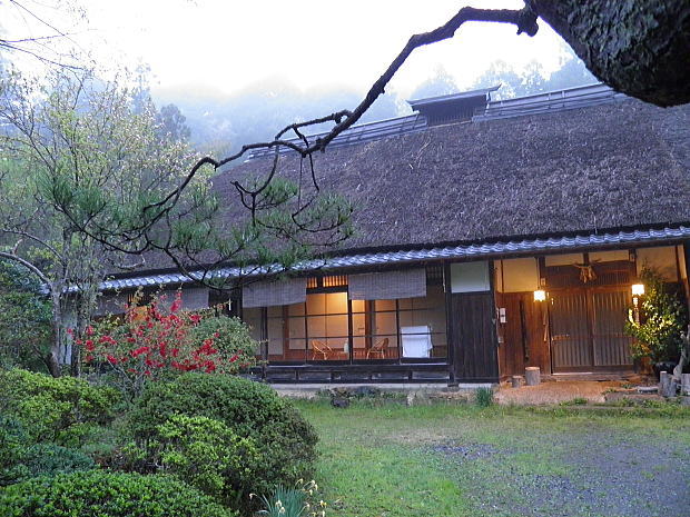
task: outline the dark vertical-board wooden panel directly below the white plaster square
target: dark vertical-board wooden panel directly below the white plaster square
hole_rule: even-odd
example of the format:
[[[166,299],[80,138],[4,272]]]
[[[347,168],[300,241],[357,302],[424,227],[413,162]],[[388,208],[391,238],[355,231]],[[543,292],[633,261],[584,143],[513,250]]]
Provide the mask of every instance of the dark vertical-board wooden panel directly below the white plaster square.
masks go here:
[[[450,330],[455,380],[495,382],[499,358],[491,292],[451,295]]]

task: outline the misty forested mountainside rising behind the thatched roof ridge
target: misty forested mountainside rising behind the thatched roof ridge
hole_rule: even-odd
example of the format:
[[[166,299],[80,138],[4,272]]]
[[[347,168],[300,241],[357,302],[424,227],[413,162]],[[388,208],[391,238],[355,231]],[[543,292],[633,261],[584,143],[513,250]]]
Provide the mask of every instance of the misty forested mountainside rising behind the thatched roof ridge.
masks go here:
[[[558,90],[595,82],[580,59],[569,48],[563,50],[561,68],[551,74],[532,61],[516,69],[495,61],[469,89],[502,84],[492,97],[506,99],[541,91]],[[461,91],[453,77],[443,68],[420,82],[411,99],[436,97]],[[245,143],[273,140],[276,132],[293,122],[318,118],[342,109],[354,109],[363,93],[354,90],[300,90],[293,84],[273,79],[255,83],[233,95],[203,91],[193,88],[152,92],[169,132],[190,130],[190,140],[197,149],[217,157],[228,156]],[[167,105],[167,106],[166,106]],[[174,106],[169,106],[174,105]],[[404,99],[385,93],[362,117],[358,123],[383,120],[410,113]],[[183,126],[180,126],[183,125]],[[180,129],[174,129],[179,127]],[[326,131],[332,123],[314,126],[307,135]],[[294,135],[288,135],[287,138]]]

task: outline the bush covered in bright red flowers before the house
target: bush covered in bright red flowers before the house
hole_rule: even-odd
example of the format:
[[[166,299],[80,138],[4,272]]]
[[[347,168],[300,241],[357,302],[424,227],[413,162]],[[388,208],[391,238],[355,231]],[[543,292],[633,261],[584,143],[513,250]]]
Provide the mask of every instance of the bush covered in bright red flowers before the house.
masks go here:
[[[179,291],[169,307],[166,301],[165,296],[146,306],[135,301],[126,306],[124,318],[107,318],[88,327],[83,339],[76,341],[82,347],[85,362],[110,368],[132,397],[148,380],[186,371],[238,374],[256,364],[258,344],[244,324],[223,317],[233,319],[233,325],[203,325],[206,318],[218,318],[208,311],[181,310]],[[225,336],[228,331],[241,337],[230,339]],[[225,346],[228,341],[244,344],[244,348],[229,348]]]

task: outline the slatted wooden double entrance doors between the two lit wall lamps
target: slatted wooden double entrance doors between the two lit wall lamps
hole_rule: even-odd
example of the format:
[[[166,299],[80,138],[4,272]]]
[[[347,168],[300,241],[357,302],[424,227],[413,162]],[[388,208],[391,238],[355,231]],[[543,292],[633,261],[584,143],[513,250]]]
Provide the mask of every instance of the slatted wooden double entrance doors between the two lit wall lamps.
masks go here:
[[[554,372],[619,369],[632,365],[623,328],[629,288],[581,288],[550,294]]]

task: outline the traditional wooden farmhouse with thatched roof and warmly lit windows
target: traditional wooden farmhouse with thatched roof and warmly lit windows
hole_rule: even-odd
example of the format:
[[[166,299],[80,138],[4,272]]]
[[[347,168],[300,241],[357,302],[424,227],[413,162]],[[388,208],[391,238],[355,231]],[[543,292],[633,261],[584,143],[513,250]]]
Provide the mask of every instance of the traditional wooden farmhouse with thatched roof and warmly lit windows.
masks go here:
[[[231,297],[262,344],[257,375],[457,385],[633,369],[623,327],[642,268],[688,292],[690,105],[602,84],[493,91],[411,101],[414,115],[354,127],[315,158],[322,189],[353,201],[355,235]],[[220,199],[269,160],[218,177]],[[298,157],[280,168],[297,177]],[[105,305],[140,286],[181,287],[188,308],[228,300],[161,268],[109,279]]]

